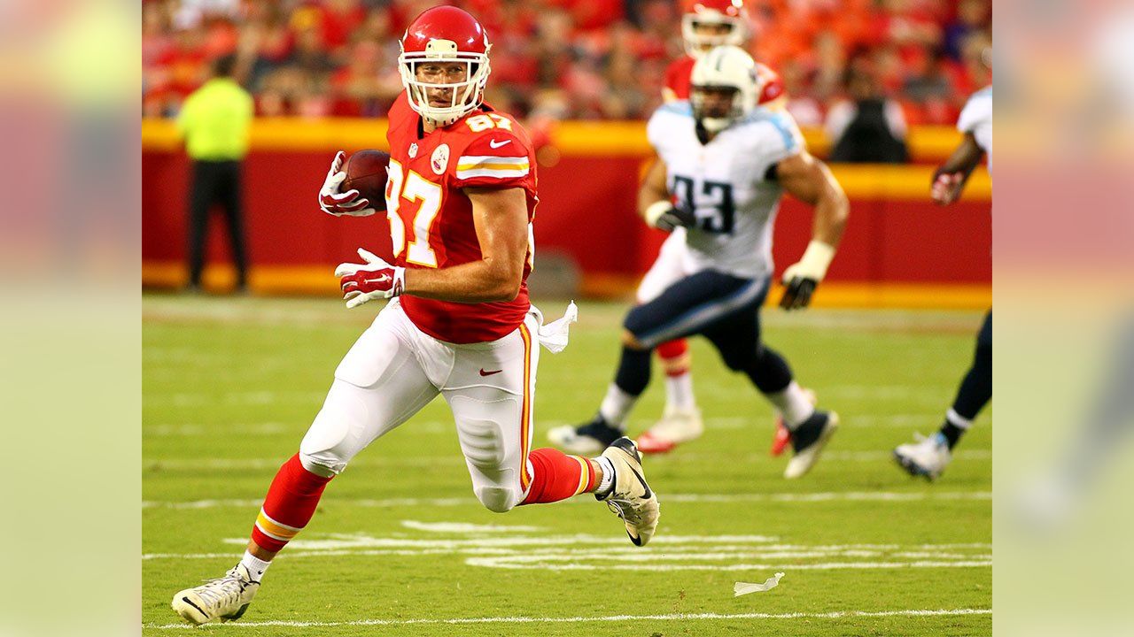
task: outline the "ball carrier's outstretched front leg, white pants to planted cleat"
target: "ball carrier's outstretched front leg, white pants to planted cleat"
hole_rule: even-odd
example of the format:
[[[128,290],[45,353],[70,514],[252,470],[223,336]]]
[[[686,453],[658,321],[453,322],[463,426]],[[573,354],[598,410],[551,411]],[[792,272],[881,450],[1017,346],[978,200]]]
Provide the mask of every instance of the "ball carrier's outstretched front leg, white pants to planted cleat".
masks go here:
[[[307,526],[331,478],[437,397],[414,356],[411,329],[391,303],[363,332],[336,370],[299,452],[272,479],[244,558],[223,577],[177,593],[172,606],[179,615],[196,625],[243,615],[272,558]]]

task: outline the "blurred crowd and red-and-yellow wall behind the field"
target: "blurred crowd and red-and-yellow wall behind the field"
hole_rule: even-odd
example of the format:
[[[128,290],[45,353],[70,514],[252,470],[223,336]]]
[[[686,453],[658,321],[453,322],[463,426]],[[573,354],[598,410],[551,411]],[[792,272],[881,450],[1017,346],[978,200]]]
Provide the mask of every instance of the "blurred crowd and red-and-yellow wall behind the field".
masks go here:
[[[400,91],[397,39],[433,0],[143,2],[143,283],[185,281],[187,159],[172,120],[209,62],[237,53],[256,99],[245,163],[254,292],[335,294],[333,264],[362,241],[388,252],[384,218],[333,219],[315,193],[333,152],[386,146],[382,118]],[[649,267],[663,236],[635,210],[650,155],[644,119],[666,65],[683,54],[680,2],[469,0],[493,42],[488,100],[525,118],[539,145],[541,204],[533,292],[617,296]],[[784,77],[788,110],[826,158],[864,74],[900,107],[911,163],[835,164],[852,219],[818,305],[987,307],[991,185],[982,169],[948,211],[928,198],[933,165],[959,141],[953,122],[984,82],[990,3],[980,0],[746,2],[750,49]],[[833,116],[833,117],[832,117]],[[903,133],[904,131],[904,133]],[[811,214],[785,201],[780,267],[810,237]],[[206,288],[232,280],[219,224]],[[542,270],[542,272],[541,272]],[[540,274],[543,274],[542,278]],[[576,289],[577,288],[577,289]]]

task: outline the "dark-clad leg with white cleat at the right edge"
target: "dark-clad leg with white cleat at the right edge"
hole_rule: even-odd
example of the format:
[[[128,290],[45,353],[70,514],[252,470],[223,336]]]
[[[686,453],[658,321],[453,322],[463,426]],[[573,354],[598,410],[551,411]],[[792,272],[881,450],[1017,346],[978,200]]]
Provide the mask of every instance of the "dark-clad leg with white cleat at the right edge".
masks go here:
[[[984,323],[976,336],[973,365],[957,389],[953,406],[946,411],[941,428],[930,438],[900,444],[894,458],[909,475],[936,479],[949,465],[953,448],[968,431],[973,419],[992,399],[992,311],[984,315]]]

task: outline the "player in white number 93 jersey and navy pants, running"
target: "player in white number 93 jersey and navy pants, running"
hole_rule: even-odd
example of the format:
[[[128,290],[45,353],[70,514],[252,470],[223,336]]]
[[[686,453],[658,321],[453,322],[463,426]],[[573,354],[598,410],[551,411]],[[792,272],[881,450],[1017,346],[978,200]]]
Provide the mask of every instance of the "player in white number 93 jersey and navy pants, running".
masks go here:
[[[756,105],[755,62],[741,48],[714,48],[693,68],[688,102],[661,107],[648,135],[658,153],[638,192],[646,222],[684,228],[682,267],[626,317],[623,351],[598,415],[576,435],[617,438],[650,382],[650,354],[702,334],[725,364],[745,373],[779,409],[795,456],[785,477],[804,475],[838,427],[793,380],[782,356],[760,340],[760,306],[773,272],[772,226],[786,190],[814,206],[813,240],[785,272],[786,308],[805,307],[835,256],[848,214],[846,195],[804,147],[790,116]]]

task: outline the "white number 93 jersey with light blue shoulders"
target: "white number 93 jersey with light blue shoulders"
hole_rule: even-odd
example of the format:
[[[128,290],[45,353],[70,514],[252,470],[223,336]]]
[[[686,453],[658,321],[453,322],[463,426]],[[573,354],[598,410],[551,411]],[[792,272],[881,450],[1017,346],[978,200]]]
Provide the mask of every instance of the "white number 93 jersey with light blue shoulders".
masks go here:
[[[693,110],[679,101],[653,113],[646,135],[666,162],[669,193],[697,216],[685,233],[686,271],[770,275],[781,188],[768,170],[804,150],[792,116],[756,108],[701,144]]]

